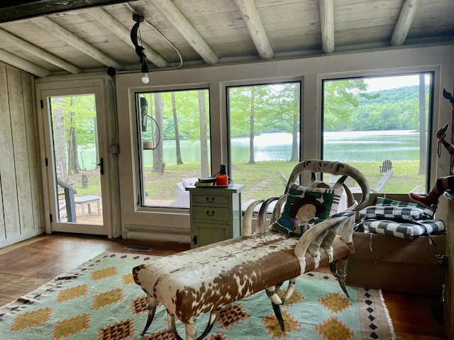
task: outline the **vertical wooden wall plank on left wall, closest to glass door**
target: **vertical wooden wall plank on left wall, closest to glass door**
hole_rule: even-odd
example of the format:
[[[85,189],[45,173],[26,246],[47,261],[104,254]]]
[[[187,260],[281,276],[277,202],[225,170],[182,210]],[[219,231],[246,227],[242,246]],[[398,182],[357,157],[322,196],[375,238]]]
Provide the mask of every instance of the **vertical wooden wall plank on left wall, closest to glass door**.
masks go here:
[[[40,166],[38,113],[35,106],[35,78],[22,73],[23,108],[26,119],[28,169],[30,169],[31,201],[33,204],[33,229],[44,229],[43,177]]]

